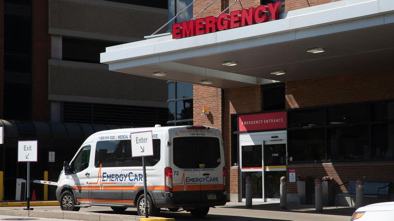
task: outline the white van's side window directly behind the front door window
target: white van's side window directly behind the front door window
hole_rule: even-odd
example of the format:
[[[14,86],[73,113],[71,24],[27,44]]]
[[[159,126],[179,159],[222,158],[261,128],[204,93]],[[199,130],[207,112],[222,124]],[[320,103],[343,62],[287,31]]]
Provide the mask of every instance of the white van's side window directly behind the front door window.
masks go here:
[[[122,166],[123,140],[104,140],[96,144],[95,168]]]

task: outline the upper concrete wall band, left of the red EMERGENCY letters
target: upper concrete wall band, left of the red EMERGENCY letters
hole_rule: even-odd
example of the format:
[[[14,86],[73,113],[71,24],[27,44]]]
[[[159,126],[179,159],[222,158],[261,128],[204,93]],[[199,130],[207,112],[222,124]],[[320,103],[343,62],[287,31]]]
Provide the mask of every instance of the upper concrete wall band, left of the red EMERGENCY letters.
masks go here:
[[[49,34],[106,41],[142,40],[167,22],[167,9],[104,0],[49,0],[48,12]]]

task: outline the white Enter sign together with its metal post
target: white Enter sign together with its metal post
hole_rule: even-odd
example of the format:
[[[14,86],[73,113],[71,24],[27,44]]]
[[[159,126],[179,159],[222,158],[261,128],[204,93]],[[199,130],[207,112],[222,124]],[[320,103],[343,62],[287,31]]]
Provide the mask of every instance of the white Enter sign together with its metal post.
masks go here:
[[[148,201],[147,201],[147,174],[145,169],[145,158],[153,156],[152,131],[142,131],[130,134],[131,155],[132,157],[142,157],[143,180],[144,180],[144,204],[145,217],[148,218]],[[153,206],[153,205],[149,205]],[[139,209],[139,208],[137,208]]]

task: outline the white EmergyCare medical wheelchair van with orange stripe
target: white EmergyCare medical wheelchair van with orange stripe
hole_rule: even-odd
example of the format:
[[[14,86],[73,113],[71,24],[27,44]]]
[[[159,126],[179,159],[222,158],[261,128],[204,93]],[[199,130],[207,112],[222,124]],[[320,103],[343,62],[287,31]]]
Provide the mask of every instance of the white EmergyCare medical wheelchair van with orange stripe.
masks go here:
[[[148,215],[160,209],[197,217],[227,202],[223,142],[219,129],[204,126],[100,131],[64,162],[56,197],[62,210],[137,207],[145,215],[142,157],[132,157],[130,134],[152,131],[153,156],[145,157]]]

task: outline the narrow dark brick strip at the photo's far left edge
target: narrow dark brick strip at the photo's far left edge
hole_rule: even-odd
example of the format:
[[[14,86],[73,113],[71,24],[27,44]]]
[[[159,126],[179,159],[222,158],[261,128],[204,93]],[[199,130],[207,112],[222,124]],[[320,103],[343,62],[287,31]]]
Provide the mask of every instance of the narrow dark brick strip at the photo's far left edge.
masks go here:
[[[4,116],[4,0],[0,0],[0,119]]]

